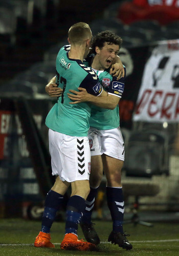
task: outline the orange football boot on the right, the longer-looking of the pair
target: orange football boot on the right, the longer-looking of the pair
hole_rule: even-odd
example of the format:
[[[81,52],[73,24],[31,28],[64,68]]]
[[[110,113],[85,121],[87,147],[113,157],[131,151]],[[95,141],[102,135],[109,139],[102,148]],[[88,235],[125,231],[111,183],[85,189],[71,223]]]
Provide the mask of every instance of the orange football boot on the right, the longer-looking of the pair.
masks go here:
[[[97,250],[95,244],[84,242],[83,239],[78,240],[76,234],[65,234],[60,248],[62,250],[79,250],[79,251],[94,251]]]

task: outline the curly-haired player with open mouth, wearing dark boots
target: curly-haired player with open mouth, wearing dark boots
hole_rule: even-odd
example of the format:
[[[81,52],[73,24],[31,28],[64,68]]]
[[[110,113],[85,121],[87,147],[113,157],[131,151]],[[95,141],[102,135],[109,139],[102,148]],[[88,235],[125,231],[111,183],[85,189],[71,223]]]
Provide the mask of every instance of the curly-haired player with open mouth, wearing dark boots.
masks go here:
[[[114,33],[105,31],[99,33],[93,40],[92,50],[94,54],[86,58],[87,65],[91,65],[98,74],[103,88],[108,92],[107,97],[93,97],[82,92],[74,92],[69,97],[74,103],[88,101],[96,106],[92,108],[89,118],[90,129],[88,132],[91,147],[92,168],[89,179],[91,191],[86,200],[86,208],[81,219],[81,227],[88,242],[98,244],[100,242],[91,222],[97,188],[101,182],[102,170],[107,178],[107,203],[113,219],[113,231],[108,241],[117,243],[122,248],[131,249],[132,245],[127,241],[123,232],[122,222],[124,214],[124,201],[121,185],[121,168],[124,161],[124,142],[119,127],[118,103],[124,90],[124,78],[119,81],[109,74],[111,61],[116,58],[121,47],[121,40]],[[46,91],[53,86],[53,80],[48,84]],[[53,93],[53,92],[52,92]],[[59,91],[60,93],[60,91]],[[73,103],[71,103],[73,104]],[[106,108],[106,109],[104,109]],[[109,109],[109,110],[107,110]]]

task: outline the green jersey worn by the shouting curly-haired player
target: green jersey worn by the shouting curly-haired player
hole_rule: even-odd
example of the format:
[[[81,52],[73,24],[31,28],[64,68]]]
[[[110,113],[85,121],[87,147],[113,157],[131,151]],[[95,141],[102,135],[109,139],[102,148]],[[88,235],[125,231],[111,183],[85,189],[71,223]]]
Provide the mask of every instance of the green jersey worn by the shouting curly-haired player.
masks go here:
[[[87,57],[83,63],[85,63],[86,66],[89,66],[92,57],[93,56]],[[103,89],[107,91],[108,94],[115,95],[117,97],[122,96],[125,76],[117,81],[116,77],[109,74],[109,69],[104,70],[103,72],[97,71],[97,75]],[[98,130],[110,130],[119,127],[119,124],[119,105],[117,105],[114,110],[103,109],[95,105],[92,106],[91,117],[89,118],[90,127],[94,127]]]

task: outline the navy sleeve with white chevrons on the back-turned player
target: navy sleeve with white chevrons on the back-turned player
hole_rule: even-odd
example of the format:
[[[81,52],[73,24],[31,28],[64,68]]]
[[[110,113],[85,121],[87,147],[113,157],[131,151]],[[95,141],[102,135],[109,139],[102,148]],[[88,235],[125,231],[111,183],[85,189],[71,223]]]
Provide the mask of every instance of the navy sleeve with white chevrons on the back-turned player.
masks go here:
[[[83,79],[79,87],[86,89],[89,94],[99,96],[102,93],[102,86],[96,73],[90,69],[90,73]]]

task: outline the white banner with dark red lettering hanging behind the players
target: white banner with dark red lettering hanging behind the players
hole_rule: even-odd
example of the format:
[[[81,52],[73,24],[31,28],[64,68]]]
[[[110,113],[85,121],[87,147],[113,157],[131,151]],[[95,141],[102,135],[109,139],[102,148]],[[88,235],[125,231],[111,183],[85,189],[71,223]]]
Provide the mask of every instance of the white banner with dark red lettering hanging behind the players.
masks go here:
[[[133,121],[179,122],[179,39],[161,41],[152,50]]]

